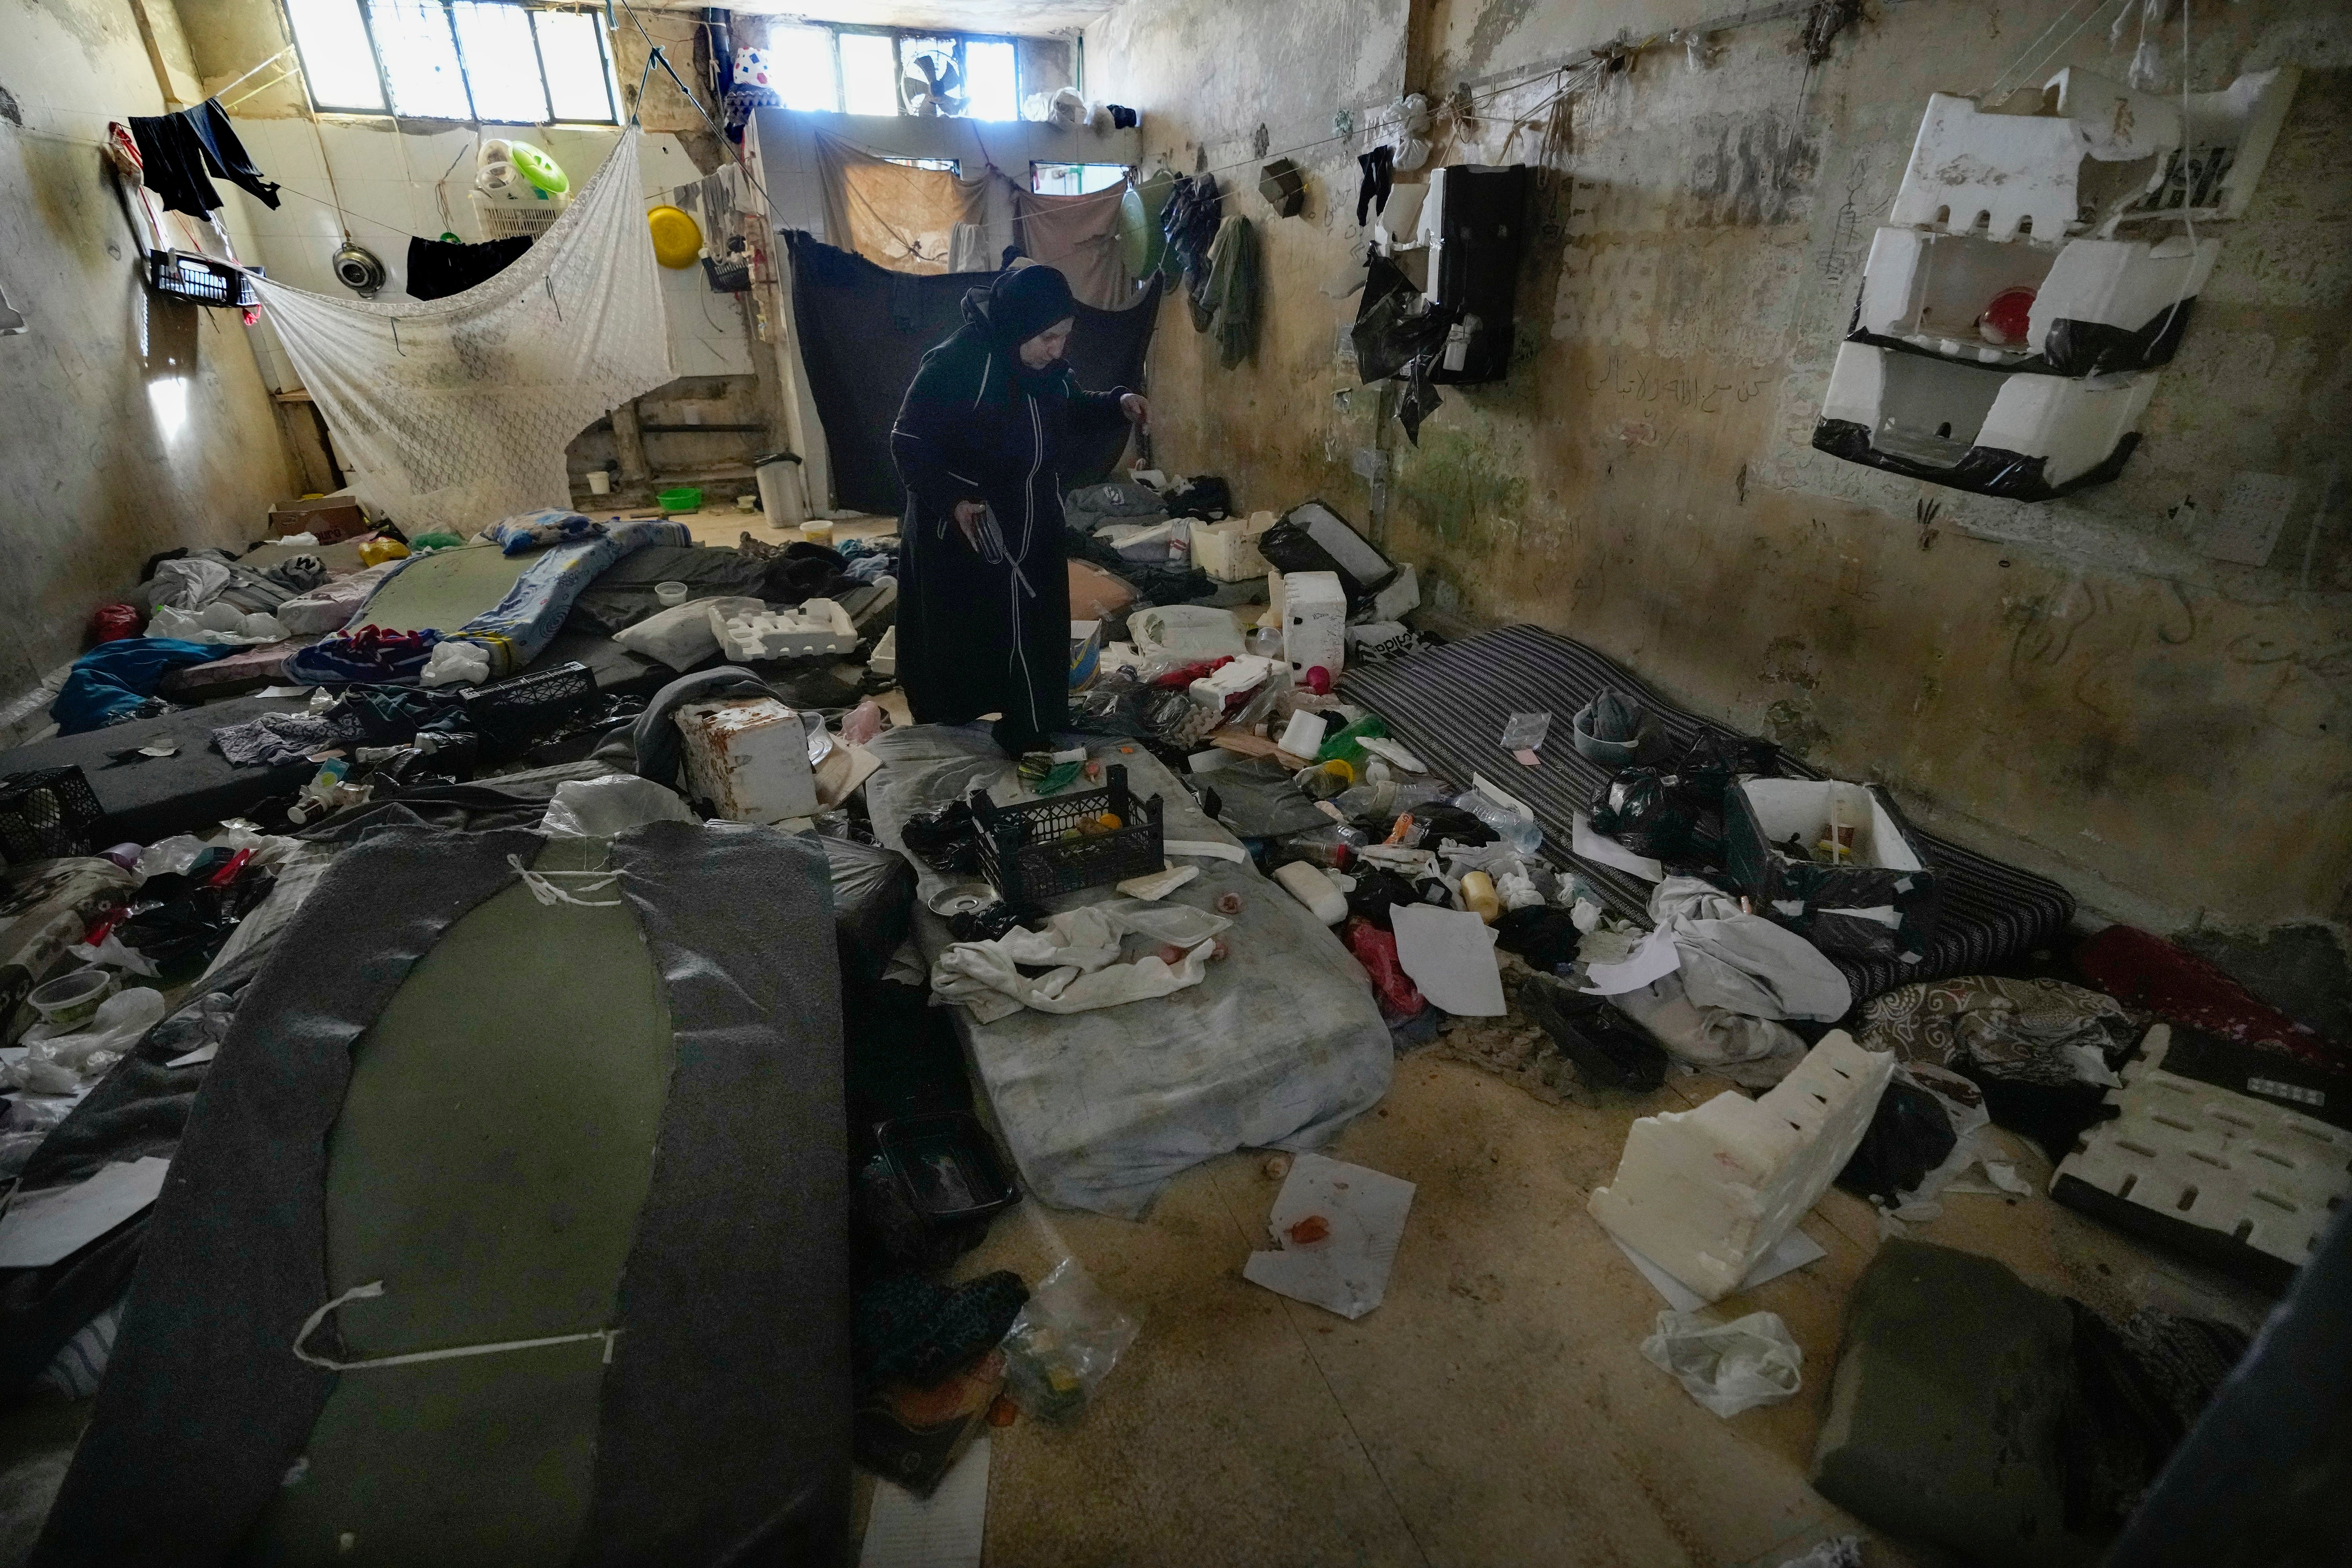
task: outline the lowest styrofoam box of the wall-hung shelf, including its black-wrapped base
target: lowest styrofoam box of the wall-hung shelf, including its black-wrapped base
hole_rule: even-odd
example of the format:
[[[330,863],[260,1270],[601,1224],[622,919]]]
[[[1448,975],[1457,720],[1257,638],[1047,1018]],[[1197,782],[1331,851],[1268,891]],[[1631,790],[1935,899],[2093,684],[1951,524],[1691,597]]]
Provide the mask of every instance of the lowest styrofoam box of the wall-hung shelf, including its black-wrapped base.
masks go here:
[[[1813,447],[2011,501],[2114,477],[2154,376],[2072,381],[1842,343]]]

